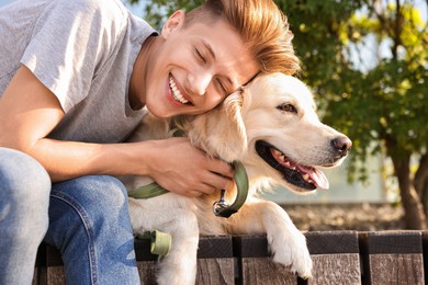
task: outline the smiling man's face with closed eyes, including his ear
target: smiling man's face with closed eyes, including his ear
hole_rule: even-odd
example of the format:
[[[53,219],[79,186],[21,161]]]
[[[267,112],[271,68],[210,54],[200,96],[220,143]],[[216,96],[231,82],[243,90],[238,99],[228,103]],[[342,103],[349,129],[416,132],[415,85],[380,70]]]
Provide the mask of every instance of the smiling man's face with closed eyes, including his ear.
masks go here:
[[[239,34],[223,20],[183,27],[176,12],[148,59],[145,103],[158,117],[212,110],[259,70]]]

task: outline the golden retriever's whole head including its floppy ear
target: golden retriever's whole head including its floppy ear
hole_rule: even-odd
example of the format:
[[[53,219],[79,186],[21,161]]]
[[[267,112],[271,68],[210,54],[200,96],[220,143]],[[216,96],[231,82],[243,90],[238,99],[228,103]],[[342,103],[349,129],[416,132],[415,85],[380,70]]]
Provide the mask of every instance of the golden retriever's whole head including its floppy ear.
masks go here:
[[[319,122],[296,78],[260,76],[191,123],[189,137],[210,155],[240,160],[250,179],[271,178],[300,192],[327,189],[318,168],[339,166],[351,140]]]

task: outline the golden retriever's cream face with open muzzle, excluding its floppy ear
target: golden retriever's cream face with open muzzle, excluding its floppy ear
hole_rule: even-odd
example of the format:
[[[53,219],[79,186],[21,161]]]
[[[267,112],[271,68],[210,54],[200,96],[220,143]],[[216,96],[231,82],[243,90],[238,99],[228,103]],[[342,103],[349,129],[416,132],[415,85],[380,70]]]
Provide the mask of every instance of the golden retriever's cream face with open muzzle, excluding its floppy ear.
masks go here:
[[[252,175],[273,178],[303,193],[328,189],[318,168],[339,166],[352,142],[319,122],[308,88],[275,73],[258,78],[246,91],[241,114],[250,151],[245,161],[255,170]]]

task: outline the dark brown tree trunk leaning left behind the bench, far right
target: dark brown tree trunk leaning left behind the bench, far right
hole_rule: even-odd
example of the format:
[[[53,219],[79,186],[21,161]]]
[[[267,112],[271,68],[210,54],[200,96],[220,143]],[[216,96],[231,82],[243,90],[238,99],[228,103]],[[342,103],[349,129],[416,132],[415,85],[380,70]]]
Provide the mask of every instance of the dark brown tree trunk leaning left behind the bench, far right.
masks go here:
[[[397,158],[391,156],[391,158],[393,160],[395,175],[398,179],[406,228],[426,229],[426,215],[420,198],[410,180],[410,157]]]

